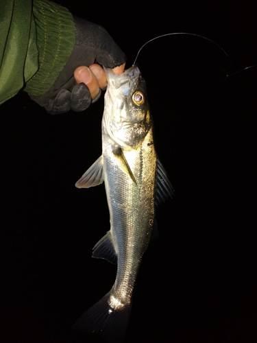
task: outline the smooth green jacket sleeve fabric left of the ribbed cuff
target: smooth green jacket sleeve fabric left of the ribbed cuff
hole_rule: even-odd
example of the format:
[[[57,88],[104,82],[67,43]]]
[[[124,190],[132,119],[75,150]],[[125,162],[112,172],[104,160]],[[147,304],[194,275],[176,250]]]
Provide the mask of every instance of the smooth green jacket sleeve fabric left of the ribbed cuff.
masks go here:
[[[32,27],[32,0],[0,0],[0,104],[13,97],[23,87],[24,69],[28,52],[29,36],[36,38]],[[36,45],[31,49],[36,49]],[[38,51],[34,51],[38,54]],[[32,77],[38,69],[38,58],[27,70],[26,77]]]

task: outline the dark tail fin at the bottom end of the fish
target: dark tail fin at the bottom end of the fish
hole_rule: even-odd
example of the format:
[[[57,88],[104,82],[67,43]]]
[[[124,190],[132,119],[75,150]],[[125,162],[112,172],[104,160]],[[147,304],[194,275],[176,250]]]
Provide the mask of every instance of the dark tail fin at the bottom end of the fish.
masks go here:
[[[99,332],[107,342],[121,343],[125,338],[131,304],[122,309],[112,309],[108,303],[110,292],[90,307],[73,325],[73,329]]]

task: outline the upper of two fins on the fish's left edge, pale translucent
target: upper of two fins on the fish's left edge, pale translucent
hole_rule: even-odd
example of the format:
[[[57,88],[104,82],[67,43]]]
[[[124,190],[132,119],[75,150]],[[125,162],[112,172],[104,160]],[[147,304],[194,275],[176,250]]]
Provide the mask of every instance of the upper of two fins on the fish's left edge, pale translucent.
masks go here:
[[[103,158],[100,156],[76,182],[77,188],[89,188],[103,183]]]

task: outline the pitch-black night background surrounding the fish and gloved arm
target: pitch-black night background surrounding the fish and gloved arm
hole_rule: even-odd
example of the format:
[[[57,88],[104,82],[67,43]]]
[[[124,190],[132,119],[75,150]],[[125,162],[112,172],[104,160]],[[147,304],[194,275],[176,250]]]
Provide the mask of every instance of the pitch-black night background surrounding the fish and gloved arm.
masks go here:
[[[175,198],[158,207],[125,342],[257,342],[256,1],[60,3],[108,29],[147,82]],[[0,342],[103,342],[71,326],[114,283],[91,259],[109,230],[104,186],[75,182],[101,154],[103,97],[48,115],[21,93],[1,110]]]

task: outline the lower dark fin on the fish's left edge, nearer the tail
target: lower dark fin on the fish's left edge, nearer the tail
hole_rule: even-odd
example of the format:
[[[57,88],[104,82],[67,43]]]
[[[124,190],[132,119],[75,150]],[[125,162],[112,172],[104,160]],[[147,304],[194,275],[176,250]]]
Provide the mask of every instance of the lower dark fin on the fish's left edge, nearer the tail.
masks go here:
[[[112,264],[117,264],[117,253],[112,244],[112,234],[110,231],[103,236],[93,248],[95,259],[107,259]]]

